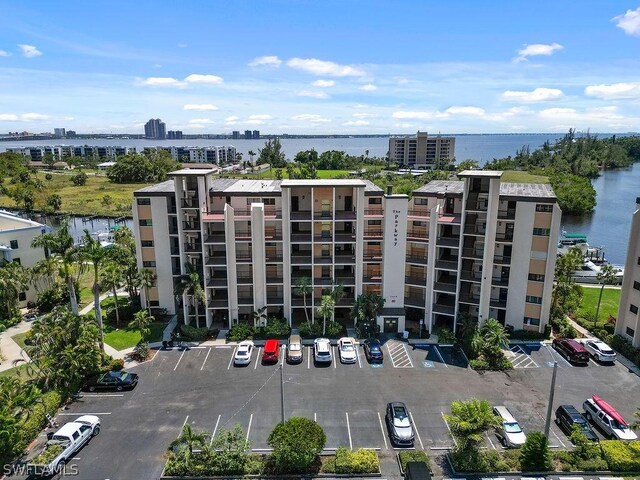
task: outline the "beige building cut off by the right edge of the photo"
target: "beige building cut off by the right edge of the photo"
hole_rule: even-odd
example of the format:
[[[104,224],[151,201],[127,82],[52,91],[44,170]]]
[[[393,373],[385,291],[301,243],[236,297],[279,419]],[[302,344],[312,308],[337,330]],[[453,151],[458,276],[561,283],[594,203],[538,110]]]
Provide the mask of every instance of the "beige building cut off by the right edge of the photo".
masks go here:
[[[636,208],[631,217],[629,247],[624,265],[624,277],[620,294],[620,306],[616,321],[616,334],[628,339],[640,348],[640,197],[636,198]]]

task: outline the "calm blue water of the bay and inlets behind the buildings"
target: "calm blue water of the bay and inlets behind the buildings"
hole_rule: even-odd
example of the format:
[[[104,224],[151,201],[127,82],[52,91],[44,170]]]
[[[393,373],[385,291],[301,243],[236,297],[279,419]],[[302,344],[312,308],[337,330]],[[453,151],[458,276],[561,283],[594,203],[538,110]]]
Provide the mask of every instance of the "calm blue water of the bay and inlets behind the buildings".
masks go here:
[[[551,142],[560,138],[555,134],[522,134],[522,135],[454,135],[456,137],[456,158],[471,158],[483,165],[493,158],[514,155],[523,145],[531,150],[540,147],[546,140]],[[606,136],[606,135],[601,135]],[[126,145],[142,148],[156,145],[183,146],[219,146],[234,145],[239,152],[248,158],[249,150],[258,152],[265,140],[137,140],[137,139],[76,139],[64,140],[67,145]],[[38,142],[0,142],[0,151],[6,147],[27,145],[60,145],[61,140]],[[364,155],[369,150],[370,156],[384,156],[389,148],[386,137],[377,138],[299,138],[283,139],[282,146],[287,158],[301,151],[315,148],[318,152],[327,150],[343,150],[350,155]],[[635,199],[640,196],[640,164],[625,170],[607,171],[593,181],[598,193],[598,205],[592,215],[584,217],[564,216],[562,226],[569,233],[584,233],[589,243],[603,246],[607,258],[615,264],[624,264],[631,214],[635,210]],[[91,232],[108,231],[113,221],[95,220],[83,224],[75,219],[74,236],[82,235],[84,228]],[[130,224],[129,224],[130,225]]]

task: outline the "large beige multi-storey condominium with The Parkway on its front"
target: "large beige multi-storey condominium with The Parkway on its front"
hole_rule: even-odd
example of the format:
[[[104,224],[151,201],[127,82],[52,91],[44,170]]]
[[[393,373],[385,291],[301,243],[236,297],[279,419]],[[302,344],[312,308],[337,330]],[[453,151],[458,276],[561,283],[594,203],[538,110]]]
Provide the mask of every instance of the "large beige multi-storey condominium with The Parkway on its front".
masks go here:
[[[455,329],[463,315],[541,331],[561,212],[549,185],[501,183],[501,175],[465,171],[409,198],[357,179],[172,172],[134,194],[138,263],[158,277],[144,301],[195,323],[193,299],[174,296],[190,263],[206,291],[201,325],[252,322],[266,307],[296,326],[317,318],[322,295],[342,284],[335,318],[347,326],[357,296],[376,293],[386,332]],[[310,281],[306,296],[301,278]]]

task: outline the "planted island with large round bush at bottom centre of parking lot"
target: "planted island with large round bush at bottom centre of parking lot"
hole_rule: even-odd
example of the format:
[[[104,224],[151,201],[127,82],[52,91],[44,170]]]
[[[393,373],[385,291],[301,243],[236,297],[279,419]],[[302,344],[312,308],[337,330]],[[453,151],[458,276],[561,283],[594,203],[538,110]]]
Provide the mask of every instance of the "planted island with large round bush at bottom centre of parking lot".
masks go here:
[[[249,441],[240,425],[220,429],[215,437],[185,425],[172,442],[161,478],[218,478],[229,476],[348,475],[378,476],[375,450],[338,448],[324,452],[326,435],[313,420],[292,417],[269,435],[271,453],[249,453]]]

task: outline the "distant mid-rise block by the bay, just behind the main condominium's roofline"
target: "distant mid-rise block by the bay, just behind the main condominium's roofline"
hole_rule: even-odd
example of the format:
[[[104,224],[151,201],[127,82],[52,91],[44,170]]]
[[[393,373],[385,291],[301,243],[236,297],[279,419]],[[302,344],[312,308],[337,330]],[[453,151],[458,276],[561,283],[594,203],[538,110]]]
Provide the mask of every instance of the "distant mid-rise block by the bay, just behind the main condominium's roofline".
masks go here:
[[[389,137],[389,161],[416,169],[446,169],[455,160],[455,137],[415,136]]]

